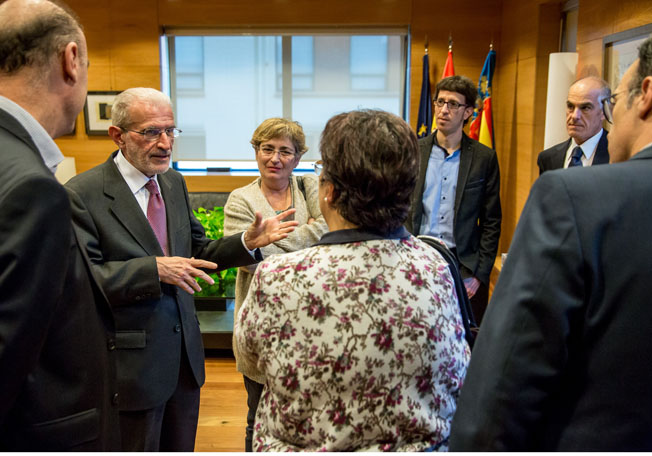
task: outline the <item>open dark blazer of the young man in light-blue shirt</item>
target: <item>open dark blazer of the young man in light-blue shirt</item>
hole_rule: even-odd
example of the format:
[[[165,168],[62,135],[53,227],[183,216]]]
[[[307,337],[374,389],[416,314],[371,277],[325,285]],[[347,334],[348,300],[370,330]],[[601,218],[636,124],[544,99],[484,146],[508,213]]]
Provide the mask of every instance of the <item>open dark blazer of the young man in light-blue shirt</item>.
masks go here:
[[[423,215],[426,170],[437,132],[419,139],[421,164],[414,189],[407,229],[418,233]],[[485,285],[496,259],[500,239],[500,172],[496,152],[478,141],[462,136],[460,168],[455,191],[453,235],[460,263]]]

